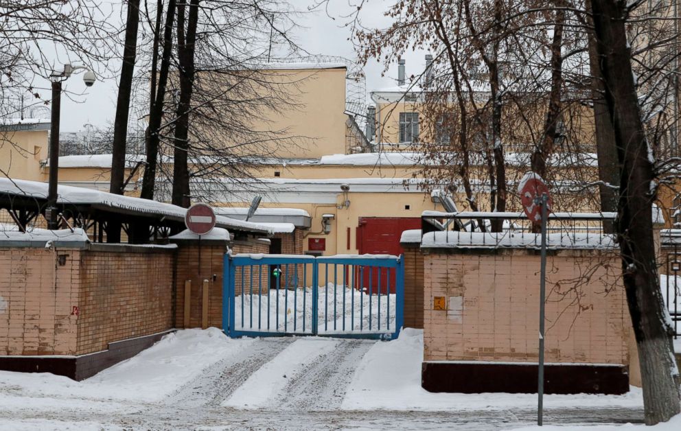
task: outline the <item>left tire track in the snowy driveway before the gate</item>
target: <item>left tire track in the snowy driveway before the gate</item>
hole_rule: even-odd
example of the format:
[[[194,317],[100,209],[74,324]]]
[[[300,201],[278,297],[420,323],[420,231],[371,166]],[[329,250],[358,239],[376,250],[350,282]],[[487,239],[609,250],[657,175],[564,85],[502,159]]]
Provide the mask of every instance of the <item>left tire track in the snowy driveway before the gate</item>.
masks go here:
[[[253,345],[213,364],[165,402],[185,408],[218,406],[293,342],[295,338],[258,338]]]

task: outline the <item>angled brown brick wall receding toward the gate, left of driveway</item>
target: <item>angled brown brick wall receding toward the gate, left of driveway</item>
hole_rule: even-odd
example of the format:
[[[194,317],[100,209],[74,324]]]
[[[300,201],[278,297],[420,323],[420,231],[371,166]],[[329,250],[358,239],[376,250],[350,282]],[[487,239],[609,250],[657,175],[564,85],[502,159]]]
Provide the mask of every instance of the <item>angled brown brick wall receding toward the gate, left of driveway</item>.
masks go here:
[[[120,248],[97,246],[82,253],[79,355],[172,328],[174,250]]]

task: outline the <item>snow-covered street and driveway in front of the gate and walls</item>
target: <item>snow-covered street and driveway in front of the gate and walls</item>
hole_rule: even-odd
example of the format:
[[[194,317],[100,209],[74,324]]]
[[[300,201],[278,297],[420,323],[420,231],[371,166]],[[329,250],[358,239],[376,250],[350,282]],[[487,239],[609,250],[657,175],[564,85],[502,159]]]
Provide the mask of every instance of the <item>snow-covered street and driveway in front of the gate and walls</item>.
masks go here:
[[[535,395],[420,388],[421,334],[392,342],[229,340],[178,331],[84,382],[0,372],[0,430],[496,430],[529,426]],[[546,423],[640,422],[640,393],[546,397]]]

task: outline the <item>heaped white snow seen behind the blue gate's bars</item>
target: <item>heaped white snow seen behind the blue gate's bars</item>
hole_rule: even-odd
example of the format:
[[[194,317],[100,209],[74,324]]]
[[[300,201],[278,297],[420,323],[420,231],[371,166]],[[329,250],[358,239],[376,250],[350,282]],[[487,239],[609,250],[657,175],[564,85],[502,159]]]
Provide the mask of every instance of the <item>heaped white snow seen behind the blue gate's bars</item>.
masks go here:
[[[254,283],[253,294],[246,290],[235,297],[235,329],[299,334],[312,331],[312,288],[281,288],[263,294],[258,294],[257,288]],[[395,331],[395,294],[378,295],[367,288],[360,292],[334,283],[319,287],[317,293],[319,334]]]

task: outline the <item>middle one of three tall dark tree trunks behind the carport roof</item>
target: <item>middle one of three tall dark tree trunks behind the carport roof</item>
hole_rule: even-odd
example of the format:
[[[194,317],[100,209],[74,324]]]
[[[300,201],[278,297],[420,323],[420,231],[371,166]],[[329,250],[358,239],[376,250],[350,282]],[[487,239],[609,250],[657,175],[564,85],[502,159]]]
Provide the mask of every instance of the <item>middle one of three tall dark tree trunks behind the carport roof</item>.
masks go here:
[[[165,14],[163,30],[163,54],[161,55],[161,69],[159,81],[152,108],[149,112],[149,126],[146,132],[146,168],[142,177],[141,198],[153,199],[154,187],[156,186],[157,159],[159,156],[159,143],[161,141],[161,121],[163,120],[163,102],[165,99],[165,86],[168,83],[168,69],[170,68],[170,55],[172,54],[172,23],[175,18],[175,0],[168,0],[168,10]],[[159,29],[160,30],[160,29]],[[156,71],[152,71],[156,73]]]

